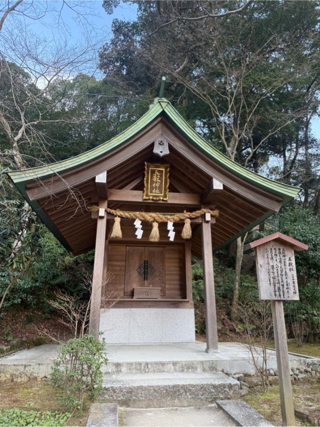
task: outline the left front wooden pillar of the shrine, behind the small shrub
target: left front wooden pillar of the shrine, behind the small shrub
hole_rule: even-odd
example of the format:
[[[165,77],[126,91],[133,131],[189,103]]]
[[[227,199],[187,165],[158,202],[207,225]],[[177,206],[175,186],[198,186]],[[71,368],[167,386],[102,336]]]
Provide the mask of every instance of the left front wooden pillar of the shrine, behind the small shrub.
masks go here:
[[[104,255],[105,255],[105,233],[106,233],[106,212],[107,200],[99,200],[98,218],[96,224],[94,264],[92,275],[91,305],[89,319],[89,333],[98,336],[100,322],[101,290],[104,275]]]

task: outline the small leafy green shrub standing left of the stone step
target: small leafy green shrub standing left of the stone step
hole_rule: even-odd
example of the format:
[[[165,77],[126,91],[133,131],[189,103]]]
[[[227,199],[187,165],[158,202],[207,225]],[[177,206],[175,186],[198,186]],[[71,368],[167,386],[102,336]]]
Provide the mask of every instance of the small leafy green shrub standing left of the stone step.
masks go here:
[[[57,349],[50,380],[59,388],[59,400],[72,410],[81,409],[84,393],[95,400],[102,391],[101,367],[107,363],[104,339],[93,335],[69,339]]]

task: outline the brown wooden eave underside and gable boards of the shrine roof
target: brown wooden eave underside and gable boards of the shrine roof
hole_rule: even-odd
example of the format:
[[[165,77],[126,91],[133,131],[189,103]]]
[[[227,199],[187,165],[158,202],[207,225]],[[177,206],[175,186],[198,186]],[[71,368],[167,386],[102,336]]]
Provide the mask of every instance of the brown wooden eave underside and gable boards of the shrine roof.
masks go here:
[[[153,140],[164,135],[169,140],[170,154],[163,158],[152,153]],[[50,224],[51,230],[60,233],[59,240],[70,248],[74,254],[85,252],[94,247],[96,219],[91,218],[87,206],[97,202],[94,177],[97,173],[107,170],[107,187],[112,190],[142,190],[144,161],[170,163],[171,193],[192,193],[199,195],[206,188],[210,178],[215,177],[223,183],[223,189],[214,193],[206,202],[210,207],[219,210],[215,224],[211,225],[212,246],[220,247],[225,242],[239,235],[243,230],[252,227],[268,216],[283,203],[283,199],[275,194],[255,188],[252,184],[232,176],[213,161],[206,158],[181,138],[176,130],[165,120],[155,120],[147,129],[127,141],[121,149],[101,157],[99,161],[87,164],[63,175],[63,179],[54,178],[43,182],[32,182],[27,185],[30,199],[40,206],[42,219]],[[63,188],[64,184],[68,184]],[[50,194],[48,194],[50,191]],[[38,197],[40,195],[40,197]],[[195,210],[200,204],[177,205],[168,202],[108,201],[108,207],[133,211],[181,212]],[[108,220],[110,228],[112,219]],[[201,256],[201,227],[192,224],[192,253]],[[176,224],[176,239],[182,225]],[[134,227],[122,220],[123,240],[134,239]],[[144,225],[143,239],[147,239],[149,226]],[[62,236],[62,238],[61,238]],[[160,237],[165,241],[168,237],[165,227],[160,226]],[[177,241],[176,240],[176,241]]]

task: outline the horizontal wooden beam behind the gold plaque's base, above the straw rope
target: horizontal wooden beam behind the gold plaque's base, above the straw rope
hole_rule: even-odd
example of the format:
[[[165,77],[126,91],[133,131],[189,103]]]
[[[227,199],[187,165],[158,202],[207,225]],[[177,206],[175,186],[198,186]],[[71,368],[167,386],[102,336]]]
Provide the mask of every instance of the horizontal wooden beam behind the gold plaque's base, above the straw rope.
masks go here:
[[[108,201],[118,203],[138,203],[138,204],[182,204],[183,206],[198,206],[200,204],[200,194],[169,192],[168,201],[163,200],[143,200],[141,190],[119,190],[108,189]]]

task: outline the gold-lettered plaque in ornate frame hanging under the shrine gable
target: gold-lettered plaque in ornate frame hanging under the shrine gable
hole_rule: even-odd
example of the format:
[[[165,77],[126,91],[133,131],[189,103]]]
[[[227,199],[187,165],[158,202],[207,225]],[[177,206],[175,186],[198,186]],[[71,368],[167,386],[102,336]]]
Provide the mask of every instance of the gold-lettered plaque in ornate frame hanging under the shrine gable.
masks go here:
[[[144,162],[143,200],[167,200],[169,194],[169,164]]]

